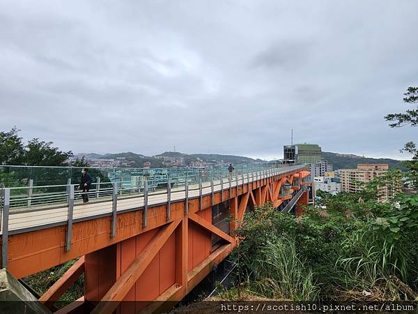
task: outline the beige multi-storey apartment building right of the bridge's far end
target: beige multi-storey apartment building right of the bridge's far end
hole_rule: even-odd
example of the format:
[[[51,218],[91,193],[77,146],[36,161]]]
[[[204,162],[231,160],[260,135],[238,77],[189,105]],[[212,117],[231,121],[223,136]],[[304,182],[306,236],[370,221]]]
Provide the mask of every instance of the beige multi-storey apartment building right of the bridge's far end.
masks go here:
[[[362,190],[362,184],[373,181],[376,177],[382,176],[389,170],[389,165],[383,164],[358,164],[357,169],[341,169],[341,188],[343,192],[355,193]],[[398,188],[397,188],[398,185]],[[401,189],[401,182],[395,184],[396,188],[389,190],[387,186],[379,188],[380,202],[386,202],[389,197]]]

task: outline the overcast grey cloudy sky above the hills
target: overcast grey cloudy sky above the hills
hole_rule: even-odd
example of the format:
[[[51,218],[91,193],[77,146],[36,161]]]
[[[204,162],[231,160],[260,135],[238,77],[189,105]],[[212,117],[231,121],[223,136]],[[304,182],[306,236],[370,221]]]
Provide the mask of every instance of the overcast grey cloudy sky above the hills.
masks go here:
[[[405,158],[418,1],[0,0],[0,130],[80,152]]]

